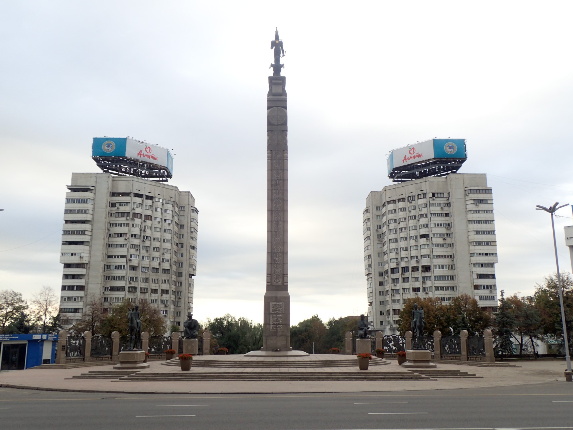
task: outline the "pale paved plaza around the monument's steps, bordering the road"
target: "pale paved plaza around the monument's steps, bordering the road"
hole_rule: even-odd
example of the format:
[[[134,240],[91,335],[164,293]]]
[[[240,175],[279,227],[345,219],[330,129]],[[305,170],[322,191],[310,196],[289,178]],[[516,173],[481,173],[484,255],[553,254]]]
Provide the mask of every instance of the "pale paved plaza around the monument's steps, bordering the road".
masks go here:
[[[215,356],[205,357],[213,359]],[[227,356],[224,359],[231,359]],[[199,357],[194,358],[199,359]],[[517,362],[515,368],[481,368],[456,364],[439,364],[438,369],[455,369],[475,373],[483,378],[438,379],[433,381],[114,381],[114,380],[72,380],[74,375],[90,370],[112,370],[112,366],[91,366],[74,369],[28,369],[0,372],[0,386],[13,388],[36,388],[46,390],[66,390],[83,392],[124,392],[124,393],[337,393],[372,392],[402,390],[435,390],[452,388],[473,388],[487,386],[507,386],[536,384],[548,381],[564,381],[565,361],[524,361]],[[225,372],[296,372],[304,369],[233,369],[220,368]],[[358,372],[357,366],[346,368],[308,368],[312,372],[319,369],[328,371]],[[214,372],[213,368],[192,368],[191,372]],[[366,372],[401,372],[397,362],[389,365],[372,366]],[[159,361],[150,363],[150,368],[142,372],[181,372],[175,366],[165,366]],[[573,388],[573,384],[572,384]]]

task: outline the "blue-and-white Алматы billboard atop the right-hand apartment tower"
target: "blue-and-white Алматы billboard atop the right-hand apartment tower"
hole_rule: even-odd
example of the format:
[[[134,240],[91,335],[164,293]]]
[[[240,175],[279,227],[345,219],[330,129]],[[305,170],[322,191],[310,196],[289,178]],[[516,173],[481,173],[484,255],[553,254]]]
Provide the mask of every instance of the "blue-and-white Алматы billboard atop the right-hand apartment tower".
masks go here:
[[[397,148],[388,155],[388,176],[397,167],[440,158],[466,158],[465,139],[430,139]]]

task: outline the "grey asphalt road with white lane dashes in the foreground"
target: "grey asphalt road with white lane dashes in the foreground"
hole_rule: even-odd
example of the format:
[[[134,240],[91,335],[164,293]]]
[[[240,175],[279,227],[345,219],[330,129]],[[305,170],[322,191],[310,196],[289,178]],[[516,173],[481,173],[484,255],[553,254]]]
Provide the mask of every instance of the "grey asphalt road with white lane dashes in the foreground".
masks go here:
[[[197,396],[0,388],[0,428],[573,429],[573,384]]]

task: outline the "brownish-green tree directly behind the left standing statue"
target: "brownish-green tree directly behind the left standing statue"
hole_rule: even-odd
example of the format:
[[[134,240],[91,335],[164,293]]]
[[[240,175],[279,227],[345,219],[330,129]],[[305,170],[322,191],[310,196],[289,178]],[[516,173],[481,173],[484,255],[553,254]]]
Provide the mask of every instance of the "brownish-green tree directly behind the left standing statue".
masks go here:
[[[124,299],[123,302],[114,306],[111,312],[103,315],[100,333],[110,336],[113,331],[118,331],[120,336],[127,336],[129,334],[127,314],[136,304],[139,306],[139,314],[142,319],[142,331],[147,331],[150,336],[165,334],[167,323],[159,313],[158,308],[152,306],[147,300],[131,303],[128,299]]]

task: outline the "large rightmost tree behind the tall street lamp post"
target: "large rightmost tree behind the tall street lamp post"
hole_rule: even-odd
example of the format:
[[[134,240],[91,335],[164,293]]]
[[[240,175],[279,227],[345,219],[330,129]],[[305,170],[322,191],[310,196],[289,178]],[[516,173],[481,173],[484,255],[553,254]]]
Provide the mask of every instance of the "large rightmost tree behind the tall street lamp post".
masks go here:
[[[563,306],[565,310],[567,337],[570,352],[573,353],[573,279],[569,273],[561,274],[561,286],[563,288]],[[556,273],[545,277],[545,284],[536,284],[533,300],[535,302],[535,308],[539,311],[543,334],[551,334],[563,339],[559,284]]]

